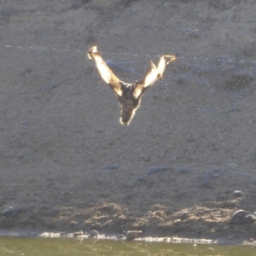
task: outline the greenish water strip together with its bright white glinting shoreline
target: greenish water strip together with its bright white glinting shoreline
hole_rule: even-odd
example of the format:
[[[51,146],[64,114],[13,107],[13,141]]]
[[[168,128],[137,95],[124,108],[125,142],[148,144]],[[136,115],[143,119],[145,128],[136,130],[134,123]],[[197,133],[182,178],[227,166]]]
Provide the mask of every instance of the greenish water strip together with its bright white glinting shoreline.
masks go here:
[[[177,237],[144,237],[136,241],[125,241],[117,236],[91,238],[88,235],[74,237],[73,233],[64,236],[62,233],[0,230],[0,255],[256,256],[256,247],[249,244],[220,244],[218,241]]]

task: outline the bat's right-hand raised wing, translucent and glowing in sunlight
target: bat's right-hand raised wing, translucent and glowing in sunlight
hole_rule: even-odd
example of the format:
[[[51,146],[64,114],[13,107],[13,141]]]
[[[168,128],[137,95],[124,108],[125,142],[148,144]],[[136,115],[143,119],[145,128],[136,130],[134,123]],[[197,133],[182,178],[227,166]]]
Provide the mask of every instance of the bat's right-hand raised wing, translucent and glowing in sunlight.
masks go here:
[[[165,72],[166,66],[169,63],[176,60],[177,58],[175,55],[162,55],[160,57],[157,67],[155,67],[154,63],[150,61],[148,72],[146,73],[146,75],[141,81],[136,82],[136,86],[135,86],[136,88],[133,92],[133,95],[135,96],[135,98],[142,96],[145,90],[147,90],[157,80],[161,79],[163,77],[163,73]]]

